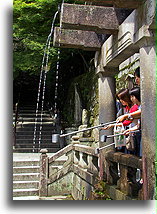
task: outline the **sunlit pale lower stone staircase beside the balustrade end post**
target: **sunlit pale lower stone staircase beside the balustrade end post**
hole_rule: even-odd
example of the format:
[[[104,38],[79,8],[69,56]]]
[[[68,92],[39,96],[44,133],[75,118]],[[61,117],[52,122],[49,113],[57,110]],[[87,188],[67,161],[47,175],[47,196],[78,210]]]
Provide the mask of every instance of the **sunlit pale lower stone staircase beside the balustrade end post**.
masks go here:
[[[13,153],[13,200],[73,200],[70,195],[39,197],[39,160],[39,153]],[[59,170],[66,160],[63,156],[55,161],[53,170]]]

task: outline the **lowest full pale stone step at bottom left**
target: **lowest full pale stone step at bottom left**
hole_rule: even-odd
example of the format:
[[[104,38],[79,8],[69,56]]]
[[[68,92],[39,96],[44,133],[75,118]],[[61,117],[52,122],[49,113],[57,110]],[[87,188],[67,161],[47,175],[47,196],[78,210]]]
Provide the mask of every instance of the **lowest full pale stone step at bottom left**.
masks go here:
[[[13,190],[13,197],[19,196],[38,196],[39,190],[38,189],[14,189]]]

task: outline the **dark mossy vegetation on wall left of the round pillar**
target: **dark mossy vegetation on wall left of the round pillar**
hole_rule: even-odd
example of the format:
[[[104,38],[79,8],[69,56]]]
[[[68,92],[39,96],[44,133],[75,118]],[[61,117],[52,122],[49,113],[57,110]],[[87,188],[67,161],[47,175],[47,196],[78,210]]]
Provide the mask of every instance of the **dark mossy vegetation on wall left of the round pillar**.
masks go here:
[[[63,117],[67,121],[67,126],[75,124],[75,85],[80,95],[82,109],[88,111],[89,125],[93,125],[98,115],[98,77],[94,71],[84,73],[71,81],[65,106],[63,108]]]

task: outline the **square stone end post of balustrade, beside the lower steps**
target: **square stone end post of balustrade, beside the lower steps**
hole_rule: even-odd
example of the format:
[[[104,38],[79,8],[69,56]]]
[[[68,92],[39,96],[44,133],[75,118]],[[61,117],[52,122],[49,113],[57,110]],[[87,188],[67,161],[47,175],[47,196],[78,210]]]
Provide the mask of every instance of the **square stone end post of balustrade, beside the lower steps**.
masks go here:
[[[40,153],[40,179],[39,179],[39,196],[47,196],[48,195],[48,156],[47,149],[41,149]]]

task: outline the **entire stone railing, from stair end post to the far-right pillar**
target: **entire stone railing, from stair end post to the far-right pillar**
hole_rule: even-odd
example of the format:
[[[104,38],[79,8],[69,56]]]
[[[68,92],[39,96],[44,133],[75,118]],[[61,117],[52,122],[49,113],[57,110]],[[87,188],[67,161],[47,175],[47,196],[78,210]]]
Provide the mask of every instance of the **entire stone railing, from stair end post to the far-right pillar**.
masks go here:
[[[106,192],[111,199],[143,200],[144,190],[136,178],[137,169],[142,174],[141,159],[114,151],[106,152],[102,156],[102,153],[96,154],[95,148],[79,144],[78,136],[73,136],[72,140],[72,144],[52,157],[48,157],[46,149],[41,150],[40,197],[53,195],[56,181],[61,181],[58,185],[65,188],[66,185],[68,188],[70,186],[68,191],[75,200],[88,200],[94,185],[99,179],[103,179],[106,182]],[[56,162],[62,157],[64,162],[57,168]],[[104,173],[105,177],[103,177]],[[65,177],[68,178],[64,180]]]

